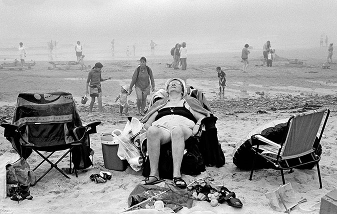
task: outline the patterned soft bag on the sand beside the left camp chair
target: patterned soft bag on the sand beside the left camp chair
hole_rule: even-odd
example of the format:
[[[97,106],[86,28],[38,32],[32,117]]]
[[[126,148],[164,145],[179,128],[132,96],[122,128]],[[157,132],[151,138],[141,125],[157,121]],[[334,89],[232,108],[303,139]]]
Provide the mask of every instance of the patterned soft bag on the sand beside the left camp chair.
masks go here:
[[[6,183],[19,183],[27,186],[36,184],[36,175],[23,157],[20,157],[12,164],[6,165]]]

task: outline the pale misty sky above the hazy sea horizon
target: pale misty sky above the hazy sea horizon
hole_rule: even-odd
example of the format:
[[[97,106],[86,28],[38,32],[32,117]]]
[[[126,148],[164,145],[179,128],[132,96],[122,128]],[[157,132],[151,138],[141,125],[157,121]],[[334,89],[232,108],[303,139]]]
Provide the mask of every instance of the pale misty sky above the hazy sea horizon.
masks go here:
[[[318,42],[337,35],[335,0],[1,0],[0,40]],[[240,46],[242,46],[240,44]]]

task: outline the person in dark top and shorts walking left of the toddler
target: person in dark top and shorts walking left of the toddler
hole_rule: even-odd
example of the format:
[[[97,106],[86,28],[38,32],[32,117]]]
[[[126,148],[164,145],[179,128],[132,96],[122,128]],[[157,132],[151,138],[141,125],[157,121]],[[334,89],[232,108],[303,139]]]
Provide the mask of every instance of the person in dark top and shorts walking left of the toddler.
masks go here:
[[[95,63],[95,66],[93,66],[92,69],[89,71],[88,78],[86,80],[86,90],[85,90],[85,94],[90,94],[91,96],[91,102],[89,107],[90,113],[92,113],[92,107],[93,103],[95,102],[95,97],[97,97],[99,116],[101,116],[102,113],[102,89],[100,82],[111,78],[111,77],[108,77],[106,79],[102,78],[101,76],[102,67],[103,67],[102,63],[97,62]],[[90,93],[88,90],[88,86],[90,86]]]

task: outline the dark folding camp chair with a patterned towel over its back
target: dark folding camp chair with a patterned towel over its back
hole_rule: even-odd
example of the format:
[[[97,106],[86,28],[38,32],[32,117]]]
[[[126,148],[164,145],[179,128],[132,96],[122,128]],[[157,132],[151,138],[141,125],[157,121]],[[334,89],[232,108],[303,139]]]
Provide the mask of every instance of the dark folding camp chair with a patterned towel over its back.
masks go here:
[[[12,124],[2,123],[1,126],[4,127],[4,136],[21,157],[26,159],[34,150],[43,158],[33,171],[44,161],[50,164],[37,179],[39,181],[52,168],[69,178],[57,164],[70,152],[71,173],[71,152],[75,151],[76,146],[90,146],[89,134],[96,133],[98,124],[100,121],[82,126],[71,93],[52,92],[19,93]],[[49,157],[61,150],[65,150],[65,153],[52,162]],[[40,151],[50,153],[46,155]]]

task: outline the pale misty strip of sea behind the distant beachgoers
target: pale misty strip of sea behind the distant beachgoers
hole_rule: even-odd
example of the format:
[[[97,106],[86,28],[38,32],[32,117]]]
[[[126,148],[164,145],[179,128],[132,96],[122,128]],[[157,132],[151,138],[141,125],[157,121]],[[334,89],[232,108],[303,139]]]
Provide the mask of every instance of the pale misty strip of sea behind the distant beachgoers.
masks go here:
[[[23,40],[22,40],[23,39]],[[52,39],[52,38],[51,38]],[[15,58],[19,59],[18,46],[19,42],[23,42],[26,49],[26,61],[75,61],[75,44],[80,40],[85,60],[123,60],[123,59],[139,59],[141,56],[151,56],[150,39],[136,37],[117,37],[114,38],[114,49],[112,51],[111,41],[113,38],[102,35],[101,37],[83,37],[83,38],[55,38],[52,39],[52,51],[48,47],[50,39],[43,37],[26,37],[26,38],[5,38],[0,40],[0,61],[11,62]],[[176,43],[186,42],[188,49],[187,54],[202,54],[202,53],[220,53],[220,52],[238,52],[240,55],[241,49],[245,43],[249,43],[254,50],[261,50],[265,43],[264,38],[237,38],[237,39],[207,39],[207,38],[191,38],[182,40],[177,38],[161,37],[153,39],[156,43],[154,48],[155,56],[167,55],[170,56],[170,49]],[[296,48],[295,44],[287,45],[289,41],[280,40],[277,37],[270,38],[273,48]],[[298,47],[301,43],[296,44]],[[135,48],[133,48],[133,46]],[[308,47],[308,45],[306,45]],[[126,51],[128,49],[128,52]]]

